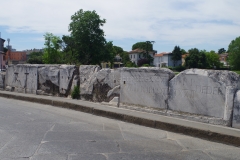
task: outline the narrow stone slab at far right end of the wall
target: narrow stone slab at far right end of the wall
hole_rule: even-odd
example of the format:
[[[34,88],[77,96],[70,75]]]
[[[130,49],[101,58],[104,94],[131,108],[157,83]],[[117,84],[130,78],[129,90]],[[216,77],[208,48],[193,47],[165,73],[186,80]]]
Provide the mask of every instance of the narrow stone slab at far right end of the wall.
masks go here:
[[[232,127],[240,129],[240,90],[237,91],[234,98]]]

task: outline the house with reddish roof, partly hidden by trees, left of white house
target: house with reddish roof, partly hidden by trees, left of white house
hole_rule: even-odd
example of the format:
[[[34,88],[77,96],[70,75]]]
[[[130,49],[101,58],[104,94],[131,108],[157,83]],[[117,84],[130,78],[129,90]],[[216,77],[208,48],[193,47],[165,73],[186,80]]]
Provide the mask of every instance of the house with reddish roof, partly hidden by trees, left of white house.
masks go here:
[[[148,52],[148,54],[149,54],[152,58],[154,58],[154,55],[155,55],[156,53],[157,53],[157,51],[155,51],[155,50]],[[146,54],[146,51],[143,50],[143,49],[137,48],[137,49],[135,49],[135,50],[132,50],[132,51],[128,52],[128,54],[129,54],[130,60],[137,65],[137,63],[138,63],[138,61],[139,61],[140,59],[144,59],[144,58],[145,58],[145,57],[144,57],[144,54]]]

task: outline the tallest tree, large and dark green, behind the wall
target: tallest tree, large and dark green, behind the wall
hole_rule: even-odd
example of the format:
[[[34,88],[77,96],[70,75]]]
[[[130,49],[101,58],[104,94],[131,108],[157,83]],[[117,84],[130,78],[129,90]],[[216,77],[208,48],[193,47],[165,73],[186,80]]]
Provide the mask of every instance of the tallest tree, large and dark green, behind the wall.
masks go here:
[[[110,52],[105,52],[108,47],[104,31],[101,27],[106,23],[96,11],[83,11],[80,9],[71,16],[69,32],[73,46],[73,57],[81,64],[99,64],[107,61]]]

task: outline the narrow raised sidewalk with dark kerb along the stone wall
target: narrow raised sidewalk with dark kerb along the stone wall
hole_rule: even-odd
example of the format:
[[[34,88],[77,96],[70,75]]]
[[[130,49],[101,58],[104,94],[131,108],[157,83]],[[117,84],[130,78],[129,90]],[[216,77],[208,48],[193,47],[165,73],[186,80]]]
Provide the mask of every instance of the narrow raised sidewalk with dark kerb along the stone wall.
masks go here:
[[[63,97],[41,96],[8,91],[0,91],[0,96],[28,102],[52,105],[55,107],[73,109],[146,127],[182,133],[210,141],[240,146],[240,130],[231,127],[189,121],[186,119],[167,117],[163,115],[128,110],[124,108],[103,105],[100,103],[73,100]]]

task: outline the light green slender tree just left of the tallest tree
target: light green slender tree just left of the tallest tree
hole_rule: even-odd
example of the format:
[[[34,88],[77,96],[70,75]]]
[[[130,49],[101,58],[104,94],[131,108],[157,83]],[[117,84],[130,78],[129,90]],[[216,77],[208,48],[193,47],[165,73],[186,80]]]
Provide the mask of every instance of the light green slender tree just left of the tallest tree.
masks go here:
[[[61,39],[52,33],[46,33],[43,62],[46,64],[57,64],[62,62],[61,58]]]

